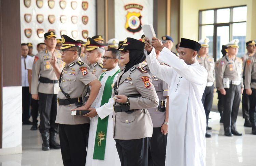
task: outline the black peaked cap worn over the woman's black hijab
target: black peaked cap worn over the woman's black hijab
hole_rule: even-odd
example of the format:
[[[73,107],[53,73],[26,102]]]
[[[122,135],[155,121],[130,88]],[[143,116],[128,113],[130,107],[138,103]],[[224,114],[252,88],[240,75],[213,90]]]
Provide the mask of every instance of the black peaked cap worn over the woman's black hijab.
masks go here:
[[[139,50],[144,51],[145,43],[139,41],[137,39],[133,39],[131,37],[127,37],[124,43],[117,48],[119,51],[126,51],[126,50]]]

